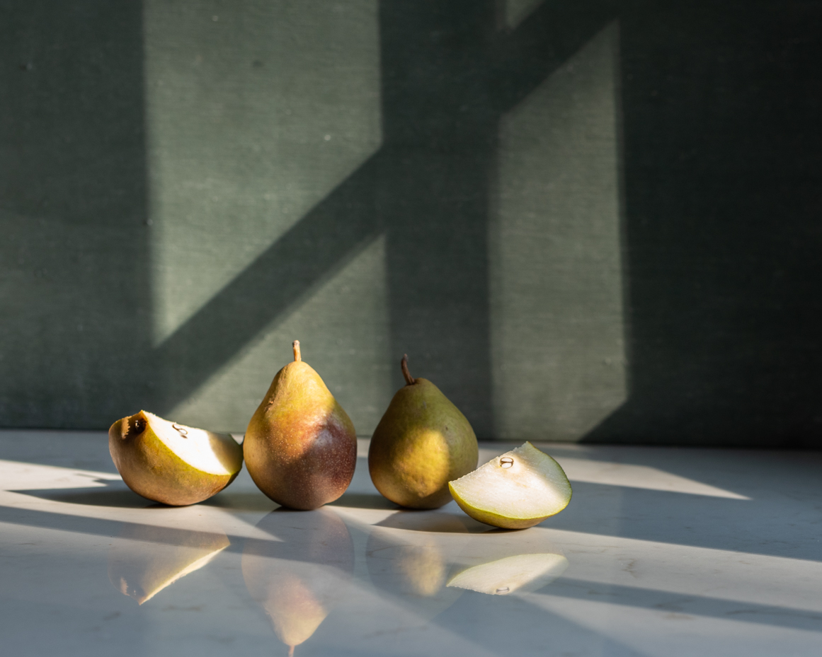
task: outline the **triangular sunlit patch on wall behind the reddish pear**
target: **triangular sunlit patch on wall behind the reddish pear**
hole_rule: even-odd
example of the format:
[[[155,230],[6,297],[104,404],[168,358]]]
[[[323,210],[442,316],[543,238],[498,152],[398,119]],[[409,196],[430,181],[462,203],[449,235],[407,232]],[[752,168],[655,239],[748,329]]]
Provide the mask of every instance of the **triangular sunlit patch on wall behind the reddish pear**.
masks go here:
[[[245,431],[271,379],[292,360],[294,339],[358,434],[372,434],[391,398],[385,237],[372,241],[288,317],[275,320],[172,416],[215,430]]]

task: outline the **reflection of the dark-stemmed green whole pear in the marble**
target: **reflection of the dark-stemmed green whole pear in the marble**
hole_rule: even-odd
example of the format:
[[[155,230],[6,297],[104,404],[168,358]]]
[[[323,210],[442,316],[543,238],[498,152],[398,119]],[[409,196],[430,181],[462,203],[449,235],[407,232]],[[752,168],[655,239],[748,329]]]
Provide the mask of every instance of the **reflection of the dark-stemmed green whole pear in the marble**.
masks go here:
[[[461,591],[447,588],[451,561],[469,540],[461,518],[430,512],[399,512],[373,526],[366,546],[368,577],[382,595],[431,619]]]

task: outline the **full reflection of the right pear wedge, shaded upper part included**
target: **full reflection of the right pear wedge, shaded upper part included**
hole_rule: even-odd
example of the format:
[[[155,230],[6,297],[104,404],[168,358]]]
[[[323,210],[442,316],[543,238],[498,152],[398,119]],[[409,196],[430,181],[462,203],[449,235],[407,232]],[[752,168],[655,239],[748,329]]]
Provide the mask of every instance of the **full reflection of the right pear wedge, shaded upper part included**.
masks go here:
[[[529,593],[549,585],[568,559],[545,531],[487,531],[457,558],[447,586],[487,595]]]

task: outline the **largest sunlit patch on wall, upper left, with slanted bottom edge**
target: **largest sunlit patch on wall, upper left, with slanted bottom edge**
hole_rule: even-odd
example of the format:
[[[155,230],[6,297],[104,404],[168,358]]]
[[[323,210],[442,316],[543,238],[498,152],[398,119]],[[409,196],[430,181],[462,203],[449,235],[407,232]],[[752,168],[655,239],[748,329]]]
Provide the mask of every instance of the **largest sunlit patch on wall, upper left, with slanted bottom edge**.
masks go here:
[[[376,0],[146,0],[155,345],[381,145]]]

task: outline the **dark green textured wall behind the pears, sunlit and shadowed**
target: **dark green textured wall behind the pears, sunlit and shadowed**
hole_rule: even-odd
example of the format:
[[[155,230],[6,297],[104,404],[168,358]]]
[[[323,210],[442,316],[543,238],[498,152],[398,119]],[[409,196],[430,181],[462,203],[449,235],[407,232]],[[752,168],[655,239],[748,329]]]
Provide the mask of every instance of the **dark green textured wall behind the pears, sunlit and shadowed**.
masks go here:
[[[822,445],[822,2],[0,0],[0,425]]]

